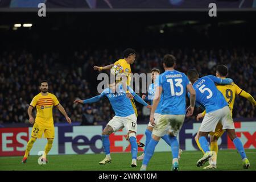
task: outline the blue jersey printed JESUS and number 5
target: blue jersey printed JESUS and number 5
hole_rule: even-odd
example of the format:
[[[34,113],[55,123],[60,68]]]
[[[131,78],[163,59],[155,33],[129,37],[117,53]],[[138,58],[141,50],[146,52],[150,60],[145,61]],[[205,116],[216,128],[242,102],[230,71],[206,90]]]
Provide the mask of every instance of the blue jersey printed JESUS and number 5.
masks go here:
[[[220,78],[209,75],[199,78],[193,84],[193,88],[196,91],[196,102],[202,105],[207,113],[228,105],[224,96],[215,85],[215,83],[221,84],[221,82]]]

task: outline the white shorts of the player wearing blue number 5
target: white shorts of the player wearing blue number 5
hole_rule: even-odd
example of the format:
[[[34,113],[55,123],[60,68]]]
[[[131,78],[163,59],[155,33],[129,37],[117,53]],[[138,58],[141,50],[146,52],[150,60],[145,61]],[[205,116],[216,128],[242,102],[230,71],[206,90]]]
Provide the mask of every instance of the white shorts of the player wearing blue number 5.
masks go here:
[[[206,113],[200,126],[202,132],[214,132],[218,122],[222,124],[222,130],[235,129],[229,106]]]

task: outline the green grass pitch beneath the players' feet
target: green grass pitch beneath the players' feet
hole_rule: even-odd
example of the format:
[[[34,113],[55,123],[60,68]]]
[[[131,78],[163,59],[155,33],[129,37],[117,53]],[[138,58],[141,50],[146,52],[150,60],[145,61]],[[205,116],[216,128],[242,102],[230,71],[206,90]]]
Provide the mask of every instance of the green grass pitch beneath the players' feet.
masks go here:
[[[141,152],[138,154],[141,155]],[[256,170],[256,150],[246,150],[247,158],[250,160],[250,168]],[[111,154],[112,163],[100,165],[98,162],[105,158],[104,154],[85,155],[49,155],[49,163],[40,166],[39,156],[30,156],[26,164],[22,164],[22,156],[0,157],[0,170],[125,170],[138,171],[142,162],[137,162],[137,168],[131,168],[130,153]],[[183,151],[179,161],[179,170],[204,170],[203,167],[196,167],[196,162],[202,156],[201,151]],[[155,152],[152,156],[147,170],[171,170],[171,152]],[[208,164],[208,163],[207,163]],[[205,166],[207,165],[205,164]],[[217,169],[215,170],[243,170],[242,160],[236,150],[220,150],[218,152]]]

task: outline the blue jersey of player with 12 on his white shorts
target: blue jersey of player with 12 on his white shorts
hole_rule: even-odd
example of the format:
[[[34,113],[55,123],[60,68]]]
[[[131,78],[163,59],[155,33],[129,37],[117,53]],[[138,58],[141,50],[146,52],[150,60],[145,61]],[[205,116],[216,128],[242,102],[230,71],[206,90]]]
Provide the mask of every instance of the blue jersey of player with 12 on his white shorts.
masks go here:
[[[135,92],[133,89],[129,88],[129,92],[135,96]],[[115,112],[116,116],[119,117],[127,117],[128,115],[134,114],[133,106],[131,105],[131,101],[126,97],[125,90],[122,89],[122,85],[119,86],[117,92],[113,93],[110,88],[106,88],[100,94],[101,97],[106,96],[109,99],[109,102]]]

